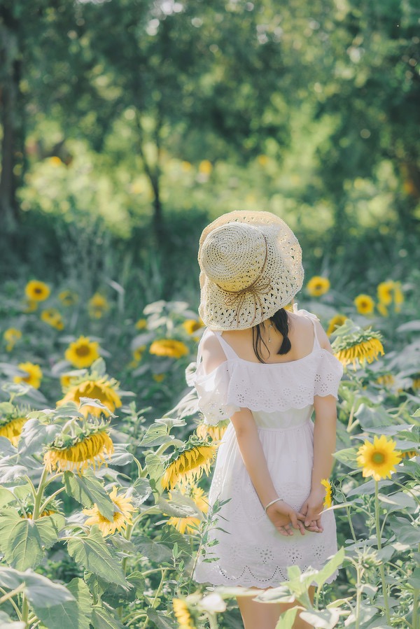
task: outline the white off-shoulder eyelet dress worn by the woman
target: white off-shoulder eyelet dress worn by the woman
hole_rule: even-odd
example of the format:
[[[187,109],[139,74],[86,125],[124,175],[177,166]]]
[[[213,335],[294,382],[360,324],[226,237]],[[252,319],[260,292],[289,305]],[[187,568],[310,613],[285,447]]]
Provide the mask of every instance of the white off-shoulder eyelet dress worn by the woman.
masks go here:
[[[314,395],[337,397],[342,365],[321,348],[316,317],[303,310],[296,313],[314,323],[314,347],[307,356],[275,364],[251,362],[239,358],[221,332],[207,329],[204,336],[216,334],[226,360],[205,374],[199,346],[192,383],[208,424],[229,418],[241,407],[251,410],[276,492],[300,509],[311,488]],[[293,535],[285,537],[276,530],[246,471],[232,423],[218,448],[209,503],[216,499],[228,500],[218,514],[223,516],[217,523],[223,531],[212,528],[209,535],[210,542],[216,539],[218,543],[207,548],[208,557],[218,559],[207,563],[200,558],[194,574],[197,583],[278,586],[288,579],[288,566],[298,565],[302,571],[309,566],[319,569],[337,552],[334,511],[321,516],[322,533],[301,535],[293,529]],[[328,583],[336,577],[337,572]]]

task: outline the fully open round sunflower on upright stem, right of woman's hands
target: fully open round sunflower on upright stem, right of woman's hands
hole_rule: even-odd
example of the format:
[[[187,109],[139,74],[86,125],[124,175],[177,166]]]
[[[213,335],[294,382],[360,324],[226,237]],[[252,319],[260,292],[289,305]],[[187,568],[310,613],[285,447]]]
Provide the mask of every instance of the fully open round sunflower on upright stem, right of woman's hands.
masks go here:
[[[375,481],[391,478],[391,472],[395,472],[395,465],[401,460],[401,453],[395,450],[395,441],[374,436],[373,444],[365,441],[363,446],[358,448],[357,462],[359,467],[363,467],[363,476],[373,476]]]

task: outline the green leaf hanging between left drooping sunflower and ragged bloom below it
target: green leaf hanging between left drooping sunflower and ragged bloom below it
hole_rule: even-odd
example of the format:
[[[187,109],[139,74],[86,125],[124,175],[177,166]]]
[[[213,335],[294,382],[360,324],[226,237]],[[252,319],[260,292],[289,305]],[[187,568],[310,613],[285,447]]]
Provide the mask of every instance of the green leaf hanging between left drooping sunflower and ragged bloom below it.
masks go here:
[[[97,504],[100,514],[113,522],[115,506],[92,469],[87,469],[83,476],[73,474],[73,472],[64,472],[64,486],[66,493],[80,502],[83,507],[92,507],[93,504]]]

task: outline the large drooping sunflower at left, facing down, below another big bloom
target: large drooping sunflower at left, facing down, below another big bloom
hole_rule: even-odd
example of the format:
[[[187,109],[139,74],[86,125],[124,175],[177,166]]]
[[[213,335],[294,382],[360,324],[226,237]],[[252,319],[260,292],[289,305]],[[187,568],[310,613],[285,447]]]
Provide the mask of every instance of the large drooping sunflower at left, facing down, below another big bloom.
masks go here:
[[[96,465],[101,467],[105,458],[113,453],[113,442],[106,432],[106,425],[99,424],[85,427],[83,432],[76,436],[59,434],[48,446],[44,454],[43,462],[48,472],[57,469],[59,472],[83,472],[84,469]]]

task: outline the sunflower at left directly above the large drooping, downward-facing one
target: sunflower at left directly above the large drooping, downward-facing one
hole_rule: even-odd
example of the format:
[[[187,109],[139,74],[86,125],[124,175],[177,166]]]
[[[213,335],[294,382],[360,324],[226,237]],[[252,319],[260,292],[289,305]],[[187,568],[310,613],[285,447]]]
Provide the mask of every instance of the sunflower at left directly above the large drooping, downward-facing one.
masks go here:
[[[85,417],[87,415],[94,415],[99,417],[101,414],[109,416],[113,411],[118,409],[121,405],[120,396],[117,393],[118,382],[113,379],[109,379],[108,376],[102,376],[93,378],[92,376],[84,376],[82,379],[78,379],[76,383],[71,384],[66,394],[57,402],[57,407],[66,404],[66,402],[76,402],[79,404],[80,397],[92,397],[93,400],[99,400],[109,411],[105,409],[99,409],[98,407],[91,407],[89,405],[83,406],[80,412]]]

